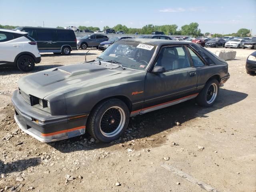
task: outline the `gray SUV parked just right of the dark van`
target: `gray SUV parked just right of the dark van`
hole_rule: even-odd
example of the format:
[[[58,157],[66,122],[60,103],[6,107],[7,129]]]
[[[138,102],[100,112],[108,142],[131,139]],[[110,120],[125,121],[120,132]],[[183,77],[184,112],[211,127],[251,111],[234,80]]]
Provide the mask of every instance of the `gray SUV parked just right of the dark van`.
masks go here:
[[[87,47],[98,48],[101,42],[104,42],[107,40],[108,40],[108,37],[102,34],[86,35],[80,39],[77,39],[77,47],[81,49],[86,49]]]

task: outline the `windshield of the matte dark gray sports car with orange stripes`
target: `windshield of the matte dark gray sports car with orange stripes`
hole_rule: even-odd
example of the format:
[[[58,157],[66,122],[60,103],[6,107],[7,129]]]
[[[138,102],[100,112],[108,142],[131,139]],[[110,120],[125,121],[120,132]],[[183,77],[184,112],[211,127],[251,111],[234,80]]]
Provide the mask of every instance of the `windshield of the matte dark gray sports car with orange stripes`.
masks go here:
[[[138,42],[118,41],[108,47],[98,60],[116,62],[124,68],[145,70],[148,66],[156,46]]]

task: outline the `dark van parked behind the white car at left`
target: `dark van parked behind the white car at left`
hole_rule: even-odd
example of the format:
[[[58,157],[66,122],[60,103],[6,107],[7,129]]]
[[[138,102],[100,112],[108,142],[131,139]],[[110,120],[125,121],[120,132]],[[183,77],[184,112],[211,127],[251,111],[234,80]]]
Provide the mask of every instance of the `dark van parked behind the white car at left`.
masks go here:
[[[37,42],[40,53],[69,55],[76,50],[76,35],[73,30],[42,27],[17,27],[15,30],[27,32]]]

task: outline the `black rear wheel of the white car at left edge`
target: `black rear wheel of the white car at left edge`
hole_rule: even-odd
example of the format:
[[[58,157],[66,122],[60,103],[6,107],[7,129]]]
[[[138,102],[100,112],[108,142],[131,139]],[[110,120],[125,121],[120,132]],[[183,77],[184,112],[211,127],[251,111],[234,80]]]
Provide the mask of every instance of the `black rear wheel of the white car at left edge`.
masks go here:
[[[21,71],[29,72],[35,67],[35,61],[29,55],[22,55],[18,58],[16,66]]]

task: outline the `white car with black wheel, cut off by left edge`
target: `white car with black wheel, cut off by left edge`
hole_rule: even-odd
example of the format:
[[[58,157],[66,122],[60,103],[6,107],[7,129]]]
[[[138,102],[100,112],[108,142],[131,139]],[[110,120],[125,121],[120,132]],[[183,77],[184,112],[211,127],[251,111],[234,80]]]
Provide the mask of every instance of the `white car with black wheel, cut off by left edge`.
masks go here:
[[[37,44],[28,33],[0,29],[0,66],[16,66],[28,72],[40,61]]]

